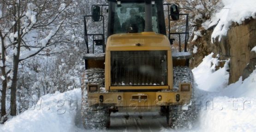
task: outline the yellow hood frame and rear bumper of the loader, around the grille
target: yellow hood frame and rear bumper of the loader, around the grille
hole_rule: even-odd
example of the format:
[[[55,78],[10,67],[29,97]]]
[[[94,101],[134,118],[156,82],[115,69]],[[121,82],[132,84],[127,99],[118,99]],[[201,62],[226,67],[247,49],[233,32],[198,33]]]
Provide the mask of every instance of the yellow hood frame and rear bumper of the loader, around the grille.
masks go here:
[[[111,51],[167,51],[167,85],[165,86],[111,86]],[[150,72],[150,71],[149,71]],[[180,84],[179,87],[181,87]],[[189,91],[173,91],[173,60],[168,38],[154,32],[119,33],[107,39],[105,55],[105,92],[89,92],[89,106],[109,105],[120,108],[150,109],[151,106],[185,105],[191,100],[191,83]],[[159,91],[154,91],[158,90]],[[123,92],[122,90],[128,90]],[[122,92],[120,92],[122,91]],[[139,92],[138,92],[139,91]],[[101,96],[101,99],[100,99]],[[103,99],[102,99],[103,96]],[[160,99],[161,96],[161,99]],[[179,96],[179,99],[177,99]],[[146,107],[146,108],[145,108]]]

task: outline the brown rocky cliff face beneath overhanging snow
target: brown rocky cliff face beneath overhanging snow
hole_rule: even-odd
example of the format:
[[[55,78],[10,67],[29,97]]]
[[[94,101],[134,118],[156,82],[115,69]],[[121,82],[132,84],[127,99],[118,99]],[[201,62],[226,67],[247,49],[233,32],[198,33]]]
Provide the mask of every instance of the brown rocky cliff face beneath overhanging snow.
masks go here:
[[[197,52],[193,54],[190,61],[191,67],[198,66],[205,55],[214,53],[214,57],[220,60],[222,67],[225,61],[230,59],[229,83],[238,81],[243,75],[243,79],[248,77],[256,66],[255,52],[250,52],[256,46],[256,19],[248,19],[243,24],[233,23],[227,35],[222,37],[220,42],[216,38],[214,44],[211,43],[211,34],[214,27],[202,31],[203,36],[191,44],[191,51],[197,47]],[[217,56],[218,55],[218,56]]]

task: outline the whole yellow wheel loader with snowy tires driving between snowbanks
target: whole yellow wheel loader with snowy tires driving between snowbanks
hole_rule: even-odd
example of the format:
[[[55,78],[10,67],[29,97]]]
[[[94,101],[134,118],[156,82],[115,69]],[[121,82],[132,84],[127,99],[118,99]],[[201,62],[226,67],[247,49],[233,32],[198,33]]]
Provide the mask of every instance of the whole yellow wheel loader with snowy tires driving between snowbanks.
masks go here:
[[[84,127],[108,128],[112,112],[127,111],[159,111],[171,127],[189,125],[193,74],[188,68],[191,54],[186,52],[188,14],[179,13],[179,4],[163,0],[108,0],[91,8],[92,14],[84,16]],[[170,22],[180,16],[186,18],[185,31],[171,33]],[[88,31],[93,22],[102,23],[101,33]],[[179,52],[172,53],[173,34],[185,36],[183,52],[179,40]],[[95,51],[99,46],[102,50]]]

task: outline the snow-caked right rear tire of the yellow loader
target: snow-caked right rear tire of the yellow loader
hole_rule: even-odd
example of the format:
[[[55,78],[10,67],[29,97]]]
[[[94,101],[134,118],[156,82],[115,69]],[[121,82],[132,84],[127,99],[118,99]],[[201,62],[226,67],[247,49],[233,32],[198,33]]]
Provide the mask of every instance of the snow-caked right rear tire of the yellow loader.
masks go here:
[[[194,79],[190,68],[177,66],[173,67],[173,86],[179,88],[179,82],[191,82],[192,84],[192,99],[188,110],[182,110],[181,105],[170,105],[167,107],[167,125],[172,128],[186,127],[191,128],[197,117],[197,110],[193,104],[194,100]]]

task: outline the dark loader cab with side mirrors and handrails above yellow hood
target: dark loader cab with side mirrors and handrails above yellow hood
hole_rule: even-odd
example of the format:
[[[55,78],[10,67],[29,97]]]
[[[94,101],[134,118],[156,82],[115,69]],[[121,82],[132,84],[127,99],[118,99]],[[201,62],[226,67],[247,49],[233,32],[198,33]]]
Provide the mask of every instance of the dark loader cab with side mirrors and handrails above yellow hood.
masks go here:
[[[185,44],[184,51],[187,52],[186,47],[189,38],[188,14],[180,14],[179,4],[163,3],[163,0],[105,1],[107,1],[105,4],[92,5],[92,14],[84,16],[84,38],[86,46],[85,48],[87,49],[86,53],[94,54],[95,45],[102,45],[102,53],[105,53],[107,43],[106,40],[113,34],[142,32],[155,32],[166,35],[170,41],[170,44],[177,44],[177,42],[179,43],[179,52],[182,52],[183,50],[181,48],[182,44]],[[149,9],[149,6],[147,6],[149,4],[145,4],[147,2],[149,2],[150,6],[152,6],[152,8],[150,8],[151,11],[146,11],[146,7]],[[150,12],[150,14],[147,12]],[[171,24],[171,22],[181,22],[178,21],[180,16],[185,16],[181,18],[183,22],[185,20],[185,25],[182,26],[182,29],[179,26],[176,29],[172,29],[173,24]],[[89,24],[93,22],[98,22],[98,24],[95,24],[96,30],[94,29],[95,31],[99,31],[97,33],[89,33],[88,28],[91,27]],[[147,30],[148,27],[152,27],[152,30]],[[89,43],[91,44],[89,39],[92,39],[93,41],[91,51],[89,51]]]

